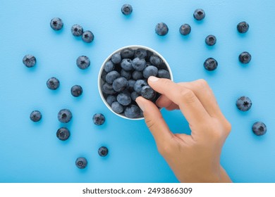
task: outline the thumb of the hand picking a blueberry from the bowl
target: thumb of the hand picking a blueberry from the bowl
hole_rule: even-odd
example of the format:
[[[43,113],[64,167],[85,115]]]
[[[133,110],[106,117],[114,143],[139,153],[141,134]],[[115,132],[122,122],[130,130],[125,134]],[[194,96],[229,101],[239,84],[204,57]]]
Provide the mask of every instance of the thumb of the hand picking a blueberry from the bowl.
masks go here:
[[[146,125],[154,136],[154,140],[156,141],[158,148],[161,148],[161,146],[167,144],[166,142],[171,141],[173,134],[164,121],[159,108],[157,108],[152,101],[149,101],[142,96],[136,98],[135,101],[143,111]]]

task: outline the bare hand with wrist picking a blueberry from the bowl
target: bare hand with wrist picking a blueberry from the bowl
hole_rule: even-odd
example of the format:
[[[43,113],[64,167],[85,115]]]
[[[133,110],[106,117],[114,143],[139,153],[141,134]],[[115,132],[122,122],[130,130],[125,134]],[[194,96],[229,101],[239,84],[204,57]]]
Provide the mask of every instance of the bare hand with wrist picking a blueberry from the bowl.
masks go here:
[[[180,182],[231,182],[220,164],[221,149],[231,131],[205,80],[174,83],[149,77],[148,84],[161,96],[157,106],[181,110],[191,134],[173,134],[157,106],[139,96],[145,122],[154,136],[159,153]]]

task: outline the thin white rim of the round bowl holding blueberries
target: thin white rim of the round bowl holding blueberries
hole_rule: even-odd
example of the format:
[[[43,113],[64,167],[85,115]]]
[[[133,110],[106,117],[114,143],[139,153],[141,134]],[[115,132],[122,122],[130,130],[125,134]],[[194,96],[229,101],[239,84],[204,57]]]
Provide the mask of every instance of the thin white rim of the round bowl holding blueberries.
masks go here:
[[[115,113],[114,110],[111,109],[111,106],[109,106],[109,104],[106,102],[106,99],[104,98],[104,95],[102,94],[102,84],[104,83],[104,81],[102,80],[102,72],[104,70],[104,65],[107,61],[109,61],[111,59],[111,56],[113,56],[114,53],[118,53],[120,51],[122,51],[123,49],[145,49],[145,50],[148,50],[148,51],[152,51],[152,53],[154,53],[155,55],[159,56],[159,58],[161,58],[162,61],[164,61],[164,63],[166,64],[166,67],[167,67],[167,70],[169,71],[169,74],[170,74],[170,79],[173,80],[173,75],[172,75],[172,72],[171,72],[171,68],[169,66],[169,64],[167,63],[167,61],[164,59],[163,56],[161,56],[161,54],[159,54],[157,51],[154,51],[154,49],[150,49],[149,47],[147,46],[140,46],[140,45],[130,45],[130,46],[123,46],[121,49],[117,49],[116,51],[114,51],[113,53],[111,53],[106,59],[105,61],[102,63],[102,67],[100,68],[99,70],[99,75],[98,75],[98,89],[99,89],[99,94],[102,98],[102,101],[105,103],[106,107],[109,108],[109,110],[111,110],[112,113],[120,116],[120,117],[123,117],[125,119],[128,119],[128,120],[143,120],[144,117],[138,117],[138,118],[129,118],[129,117],[126,117],[124,115],[124,113],[121,113],[121,114],[118,114],[118,113]]]

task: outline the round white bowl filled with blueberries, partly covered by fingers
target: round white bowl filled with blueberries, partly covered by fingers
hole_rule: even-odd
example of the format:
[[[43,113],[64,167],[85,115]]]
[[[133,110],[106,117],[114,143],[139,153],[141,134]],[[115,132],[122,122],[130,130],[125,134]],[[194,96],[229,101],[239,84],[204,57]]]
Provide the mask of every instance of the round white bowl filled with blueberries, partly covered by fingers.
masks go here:
[[[169,64],[161,54],[147,46],[124,46],[102,63],[98,89],[111,112],[128,120],[144,119],[135,98],[142,96],[155,103],[160,94],[147,83],[150,76],[173,80]]]

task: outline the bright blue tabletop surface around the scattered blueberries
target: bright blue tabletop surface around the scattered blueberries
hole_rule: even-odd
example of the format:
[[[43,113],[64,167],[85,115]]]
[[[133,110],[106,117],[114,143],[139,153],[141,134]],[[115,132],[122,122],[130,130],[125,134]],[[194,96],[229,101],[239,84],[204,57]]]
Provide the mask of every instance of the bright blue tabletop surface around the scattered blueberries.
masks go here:
[[[125,16],[121,6],[133,6]],[[193,18],[196,8],[206,17]],[[125,120],[111,113],[97,89],[97,75],[104,59],[122,46],[139,44],[161,53],[171,66],[175,82],[203,78],[212,87],[222,112],[232,124],[221,153],[221,164],[233,182],[275,182],[275,2],[271,0],[209,1],[0,1],[0,182],[178,182],[157,152],[144,120]],[[64,22],[63,30],[51,29],[51,18]],[[240,34],[236,25],[247,21],[250,30]],[[159,37],[157,23],[169,26]],[[71,26],[80,24],[94,33],[86,44],[73,37]],[[183,23],[192,27],[183,37]],[[217,43],[205,44],[208,34]],[[249,51],[252,61],[242,65],[238,55]],[[26,68],[25,54],[37,58],[35,68]],[[78,56],[91,60],[80,70]],[[203,68],[206,58],[219,63],[214,72]],[[49,77],[61,86],[47,89]],[[83,94],[71,96],[71,87],[80,84]],[[239,96],[249,96],[252,108],[236,108]],[[61,124],[57,113],[68,108],[73,120]],[[30,121],[30,112],[40,110],[42,120]],[[106,122],[94,125],[92,115],[103,113]],[[161,110],[175,133],[190,133],[179,111]],[[262,121],[267,134],[256,136],[252,124]],[[71,130],[68,141],[56,138],[56,130]],[[100,146],[109,148],[99,157]],[[85,170],[75,167],[75,159],[88,160]]]

